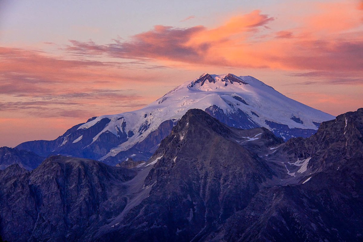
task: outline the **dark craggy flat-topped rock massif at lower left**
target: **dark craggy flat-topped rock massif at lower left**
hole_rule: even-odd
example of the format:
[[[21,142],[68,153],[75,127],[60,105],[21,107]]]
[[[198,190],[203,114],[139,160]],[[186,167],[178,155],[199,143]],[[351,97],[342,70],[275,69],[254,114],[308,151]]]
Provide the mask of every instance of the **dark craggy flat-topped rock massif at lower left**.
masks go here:
[[[94,160],[53,156],[32,172],[0,172],[0,227],[8,241],[77,241],[120,213],[123,182],[135,172]]]

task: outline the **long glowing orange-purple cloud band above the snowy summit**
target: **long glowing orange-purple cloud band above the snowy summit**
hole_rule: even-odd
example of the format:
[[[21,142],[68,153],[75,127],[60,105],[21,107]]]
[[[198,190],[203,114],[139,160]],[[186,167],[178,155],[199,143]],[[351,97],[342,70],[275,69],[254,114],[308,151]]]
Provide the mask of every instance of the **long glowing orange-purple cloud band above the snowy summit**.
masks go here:
[[[192,65],[362,71],[363,29],[359,29],[362,21],[356,6],[319,3],[313,9],[299,22],[303,25],[295,29],[274,31],[269,25],[275,18],[256,10],[232,16],[215,28],[158,25],[131,40],[109,45],[72,41],[68,50],[85,56],[99,54]]]

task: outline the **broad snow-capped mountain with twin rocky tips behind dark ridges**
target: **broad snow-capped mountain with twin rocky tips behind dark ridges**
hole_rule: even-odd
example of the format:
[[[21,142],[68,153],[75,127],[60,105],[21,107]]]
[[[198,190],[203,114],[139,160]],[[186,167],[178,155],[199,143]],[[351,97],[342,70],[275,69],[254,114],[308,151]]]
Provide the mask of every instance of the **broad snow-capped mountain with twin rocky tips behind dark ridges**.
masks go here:
[[[287,98],[250,76],[202,74],[148,106],[89,119],[52,141],[28,141],[19,149],[86,157],[116,164],[148,159],[189,109],[199,108],[236,128],[266,127],[278,137],[309,137],[335,117]]]

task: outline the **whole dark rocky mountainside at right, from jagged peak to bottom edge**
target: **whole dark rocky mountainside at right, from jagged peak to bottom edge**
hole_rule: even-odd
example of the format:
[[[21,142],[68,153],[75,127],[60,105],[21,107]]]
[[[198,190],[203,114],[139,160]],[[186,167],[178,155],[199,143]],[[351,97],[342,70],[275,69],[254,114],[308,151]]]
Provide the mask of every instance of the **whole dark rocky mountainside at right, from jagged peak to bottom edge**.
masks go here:
[[[272,156],[311,157],[307,174],[260,190],[205,241],[363,240],[363,108],[323,122],[310,138],[290,139]]]

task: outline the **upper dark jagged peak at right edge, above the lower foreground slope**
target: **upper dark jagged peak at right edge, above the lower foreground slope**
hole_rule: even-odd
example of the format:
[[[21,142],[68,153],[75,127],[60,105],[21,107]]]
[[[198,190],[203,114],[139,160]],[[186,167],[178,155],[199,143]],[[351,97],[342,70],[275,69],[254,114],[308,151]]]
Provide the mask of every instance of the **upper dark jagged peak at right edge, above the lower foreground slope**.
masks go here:
[[[274,156],[289,162],[311,158],[307,165],[311,173],[341,169],[351,157],[363,156],[363,108],[321,123],[309,138],[290,139]]]

